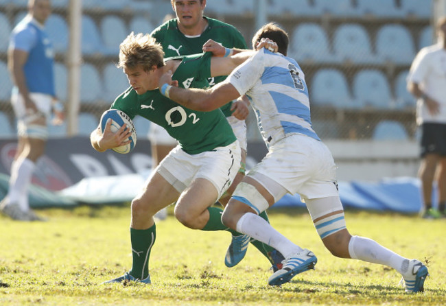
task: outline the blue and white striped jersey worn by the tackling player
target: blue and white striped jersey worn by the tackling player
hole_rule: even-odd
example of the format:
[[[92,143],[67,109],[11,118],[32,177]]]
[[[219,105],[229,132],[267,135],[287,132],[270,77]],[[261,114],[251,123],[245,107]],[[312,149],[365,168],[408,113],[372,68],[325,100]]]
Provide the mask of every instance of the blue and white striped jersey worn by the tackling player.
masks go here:
[[[262,48],[227,80],[250,99],[267,145],[296,133],[320,141],[312,128],[305,75],[292,58]]]

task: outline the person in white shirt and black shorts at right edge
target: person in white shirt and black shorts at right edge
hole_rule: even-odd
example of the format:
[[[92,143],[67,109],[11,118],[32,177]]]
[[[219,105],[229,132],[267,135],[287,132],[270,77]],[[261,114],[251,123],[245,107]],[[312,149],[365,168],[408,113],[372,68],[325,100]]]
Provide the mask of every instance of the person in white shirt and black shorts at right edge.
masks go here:
[[[421,126],[419,177],[425,218],[446,214],[446,17],[439,19],[436,45],[419,51],[408,75],[408,91],[418,98],[416,123]],[[438,187],[438,209],[432,207],[432,183]]]

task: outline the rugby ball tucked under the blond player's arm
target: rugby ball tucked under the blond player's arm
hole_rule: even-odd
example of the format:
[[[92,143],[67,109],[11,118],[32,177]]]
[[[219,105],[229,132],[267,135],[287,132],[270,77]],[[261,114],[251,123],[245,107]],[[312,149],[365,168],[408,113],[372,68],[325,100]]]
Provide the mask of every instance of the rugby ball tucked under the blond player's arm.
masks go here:
[[[127,154],[128,152],[132,151],[134,146],[137,145],[137,131],[134,129],[134,124],[132,119],[128,117],[126,113],[124,113],[122,110],[116,110],[116,109],[109,109],[106,110],[102,116],[101,116],[101,132],[104,132],[105,126],[107,124],[107,120],[112,119],[112,123],[110,126],[110,129],[112,132],[116,132],[121,128],[121,126],[124,125],[124,123],[127,124],[127,128],[130,128],[132,134],[130,135],[130,143],[127,145],[121,145],[120,147],[113,148],[112,150],[121,154]]]

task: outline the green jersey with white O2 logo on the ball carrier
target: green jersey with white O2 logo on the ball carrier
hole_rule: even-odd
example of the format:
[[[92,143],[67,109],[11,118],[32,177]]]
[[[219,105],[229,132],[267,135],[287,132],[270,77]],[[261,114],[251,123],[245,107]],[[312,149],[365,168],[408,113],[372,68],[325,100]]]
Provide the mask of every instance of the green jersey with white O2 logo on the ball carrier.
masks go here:
[[[209,87],[211,54],[185,56],[173,80],[183,88]],[[130,118],[140,115],[167,130],[189,154],[198,154],[233,143],[236,138],[220,109],[211,112],[189,110],[162,95],[158,89],[138,95],[132,87],[115,99],[111,108],[124,111]]]

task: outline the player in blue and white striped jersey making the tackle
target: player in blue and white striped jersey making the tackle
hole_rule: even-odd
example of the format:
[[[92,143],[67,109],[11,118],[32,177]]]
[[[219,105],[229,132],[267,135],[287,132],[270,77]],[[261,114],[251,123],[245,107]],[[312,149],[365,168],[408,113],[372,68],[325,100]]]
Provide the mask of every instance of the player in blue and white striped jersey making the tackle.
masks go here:
[[[259,48],[262,38],[277,43],[278,53]],[[269,23],[253,37],[258,51],[233,67],[224,82],[211,89],[180,89],[172,73],[159,78],[159,89],[191,110],[211,111],[240,95],[247,95],[255,110],[268,154],[237,185],[224,209],[222,222],[233,230],[276,248],[285,257],[283,267],[268,279],[281,285],[295,275],[314,268],[317,258],[276,231],[259,217],[286,193],[298,193],[305,202],[324,246],[336,257],[379,263],[397,270],[406,292],[421,292],[427,268],[421,261],[401,257],[366,237],[351,235],[344,220],[336,181],[336,165],[327,146],[312,128],[305,73],[296,60],[288,58],[288,36]],[[204,51],[228,56],[237,50],[209,41]],[[225,69],[231,67],[228,60]],[[298,233],[296,235],[298,237]]]

